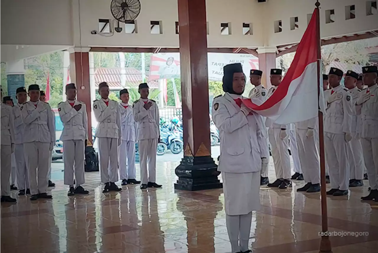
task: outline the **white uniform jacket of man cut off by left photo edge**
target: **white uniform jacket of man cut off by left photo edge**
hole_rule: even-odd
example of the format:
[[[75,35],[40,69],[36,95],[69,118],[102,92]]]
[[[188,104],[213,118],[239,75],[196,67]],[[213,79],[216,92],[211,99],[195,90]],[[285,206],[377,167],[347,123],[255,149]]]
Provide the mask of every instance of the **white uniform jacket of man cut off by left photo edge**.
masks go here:
[[[3,103],[0,103],[0,140],[2,145],[14,144],[13,108]]]

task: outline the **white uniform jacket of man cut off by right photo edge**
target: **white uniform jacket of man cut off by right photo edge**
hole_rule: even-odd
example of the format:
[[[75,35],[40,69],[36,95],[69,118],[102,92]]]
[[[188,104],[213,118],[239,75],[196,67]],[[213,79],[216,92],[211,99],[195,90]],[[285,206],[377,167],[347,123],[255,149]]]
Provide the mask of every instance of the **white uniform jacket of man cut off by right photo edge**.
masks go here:
[[[365,103],[356,106],[356,112],[361,115],[361,138],[378,138],[378,84],[361,90],[359,96],[369,90],[370,98]]]

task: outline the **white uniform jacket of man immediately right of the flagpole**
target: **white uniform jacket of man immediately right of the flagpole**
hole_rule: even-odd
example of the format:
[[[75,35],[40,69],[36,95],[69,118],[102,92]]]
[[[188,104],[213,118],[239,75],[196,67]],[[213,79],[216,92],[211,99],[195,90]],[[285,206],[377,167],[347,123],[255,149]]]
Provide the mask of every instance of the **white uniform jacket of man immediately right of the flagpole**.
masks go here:
[[[352,134],[352,106],[353,98],[350,92],[339,85],[332,89],[342,94],[342,98],[332,103],[327,103],[324,119],[324,132],[350,133]],[[332,93],[332,91],[329,91]]]

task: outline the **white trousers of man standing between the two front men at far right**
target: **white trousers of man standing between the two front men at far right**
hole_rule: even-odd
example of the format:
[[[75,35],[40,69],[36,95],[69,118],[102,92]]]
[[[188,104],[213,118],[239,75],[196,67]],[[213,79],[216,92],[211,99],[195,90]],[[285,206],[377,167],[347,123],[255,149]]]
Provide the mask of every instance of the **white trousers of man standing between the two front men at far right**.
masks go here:
[[[361,140],[357,140],[355,137],[353,137],[353,139],[349,142],[347,151],[350,166],[350,179],[364,179],[365,166],[363,164]]]

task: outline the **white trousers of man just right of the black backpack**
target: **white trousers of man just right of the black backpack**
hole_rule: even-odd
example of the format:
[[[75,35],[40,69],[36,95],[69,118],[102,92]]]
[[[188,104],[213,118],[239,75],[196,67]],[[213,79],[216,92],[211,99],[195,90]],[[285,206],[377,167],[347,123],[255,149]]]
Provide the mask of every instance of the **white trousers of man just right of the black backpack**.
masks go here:
[[[101,182],[118,181],[118,139],[98,137]]]

